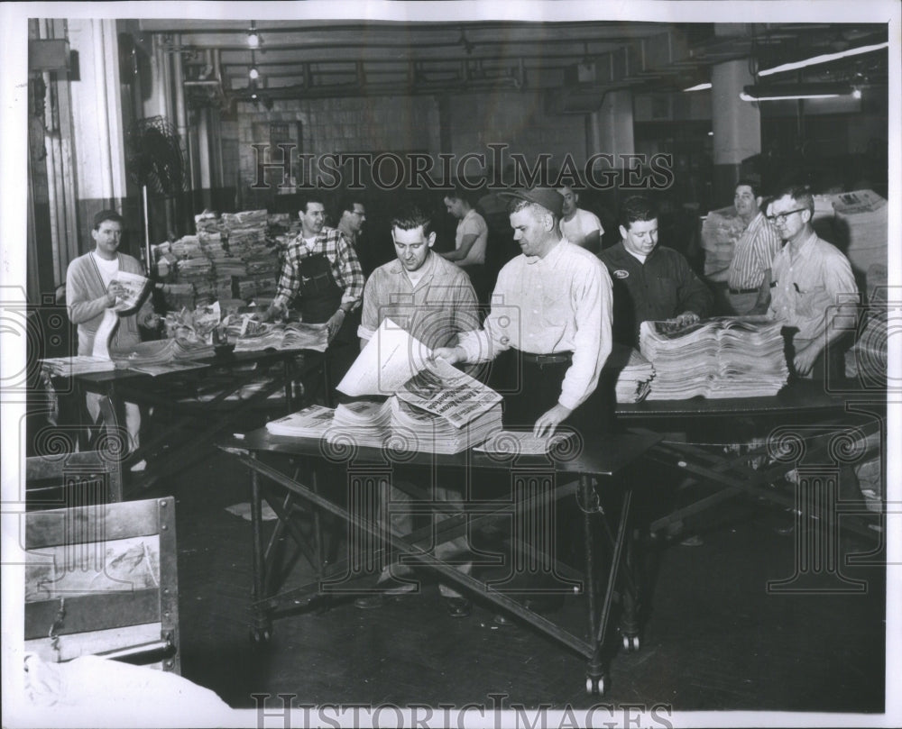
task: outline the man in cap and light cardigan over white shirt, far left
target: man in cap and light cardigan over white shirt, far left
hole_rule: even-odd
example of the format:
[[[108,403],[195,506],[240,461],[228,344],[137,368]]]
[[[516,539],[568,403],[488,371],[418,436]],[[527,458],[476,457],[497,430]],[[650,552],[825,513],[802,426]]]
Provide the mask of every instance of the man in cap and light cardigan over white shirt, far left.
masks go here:
[[[66,271],[66,307],[69,319],[78,325],[78,354],[90,355],[94,351],[94,337],[97,327],[103,321],[106,309],[115,306],[116,296],[124,293],[124,288],[115,280],[118,271],[127,271],[143,276],[144,270],[138,260],[119,252],[122,240],[122,216],[115,210],[102,210],[94,216],[94,251],[79,256],[69,263]],[[110,349],[124,350],[141,342],[138,324],[155,327],[160,323],[153,313],[150,300],[146,300],[137,313],[119,315]],[[87,393],[87,412],[93,420],[100,414],[101,396]],[[125,427],[129,435],[129,451],[138,447],[138,432],[141,428],[141,411],[133,403],[125,403]],[[132,467],[140,470],[143,461]]]

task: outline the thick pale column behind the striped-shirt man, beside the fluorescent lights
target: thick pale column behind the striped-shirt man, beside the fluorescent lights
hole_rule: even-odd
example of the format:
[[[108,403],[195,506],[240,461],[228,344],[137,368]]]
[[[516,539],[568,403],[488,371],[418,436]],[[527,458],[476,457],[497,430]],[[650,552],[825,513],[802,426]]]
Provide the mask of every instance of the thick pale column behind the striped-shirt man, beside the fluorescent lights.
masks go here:
[[[711,69],[715,207],[730,205],[741,161],[761,151],[758,105],[739,97],[742,88],[752,83],[748,59],[730,60]]]

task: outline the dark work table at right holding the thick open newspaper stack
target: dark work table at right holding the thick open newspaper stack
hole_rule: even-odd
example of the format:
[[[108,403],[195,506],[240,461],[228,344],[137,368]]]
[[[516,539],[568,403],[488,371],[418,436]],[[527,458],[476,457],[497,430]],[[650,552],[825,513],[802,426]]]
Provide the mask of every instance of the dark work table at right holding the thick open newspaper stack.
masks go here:
[[[746,494],[795,510],[799,527],[826,511],[832,525],[875,538],[877,533],[859,518],[866,513],[863,507],[840,499],[838,478],[843,466],[875,451],[885,464],[886,411],[886,391],[849,387],[830,392],[822,382],[795,380],[776,396],[646,400],[619,405],[616,415],[630,428],[664,435],[649,451],[651,459],[716,489],[653,522],[652,533]],[[685,442],[674,433],[685,436]],[[756,439],[750,448],[729,448],[750,436]],[[796,493],[772,486],[791,472],[798,478]],[[816,494],[819,514],[811,506]]]

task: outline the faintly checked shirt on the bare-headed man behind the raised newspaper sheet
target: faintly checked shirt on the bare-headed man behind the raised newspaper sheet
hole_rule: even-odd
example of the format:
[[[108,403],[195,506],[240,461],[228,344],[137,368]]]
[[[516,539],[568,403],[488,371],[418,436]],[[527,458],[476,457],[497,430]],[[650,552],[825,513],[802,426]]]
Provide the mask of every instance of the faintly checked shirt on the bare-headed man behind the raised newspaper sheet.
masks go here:
[[[416,286],[400,260],[373,271],[364,289],[357,336],[369,340],[383,319],[391,319],[430,350],[454,347],[457,335],[479,328],[470,278],[455,264],[430,252]]]

